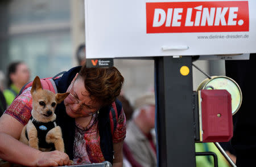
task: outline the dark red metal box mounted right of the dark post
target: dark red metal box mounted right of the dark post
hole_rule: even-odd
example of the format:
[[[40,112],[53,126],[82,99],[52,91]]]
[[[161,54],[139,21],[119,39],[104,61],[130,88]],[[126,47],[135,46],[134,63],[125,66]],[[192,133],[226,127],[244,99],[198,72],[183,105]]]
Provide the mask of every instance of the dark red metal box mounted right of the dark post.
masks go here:
[[[202,142],[228,142],[233,136],[232,99],[226,90],[199,91]]]

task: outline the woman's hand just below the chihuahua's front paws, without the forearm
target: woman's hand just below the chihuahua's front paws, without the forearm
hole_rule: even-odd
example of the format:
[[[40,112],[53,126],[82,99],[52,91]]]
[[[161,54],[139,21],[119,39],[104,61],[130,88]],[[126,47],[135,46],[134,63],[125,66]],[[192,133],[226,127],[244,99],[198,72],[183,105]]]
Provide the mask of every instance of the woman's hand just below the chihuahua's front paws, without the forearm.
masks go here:
[[[66,153],[60,151],[40,152],[36,160],[36,166],[64,166],[71,165]]]

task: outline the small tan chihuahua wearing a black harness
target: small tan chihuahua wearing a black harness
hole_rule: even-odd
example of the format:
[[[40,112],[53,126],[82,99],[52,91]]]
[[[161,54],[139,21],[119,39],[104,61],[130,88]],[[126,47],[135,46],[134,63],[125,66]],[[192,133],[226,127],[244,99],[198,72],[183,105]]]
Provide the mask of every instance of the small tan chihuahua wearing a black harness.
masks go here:
[[[31,118],[23,127],[20,141],[40,151],[56,150],[64,152],[64,142],[61,128],[56,125],[56,105],[63,101],[67,93],[53,93],[43,89],[40,78],[35,77],[32,88],[32,111]]]

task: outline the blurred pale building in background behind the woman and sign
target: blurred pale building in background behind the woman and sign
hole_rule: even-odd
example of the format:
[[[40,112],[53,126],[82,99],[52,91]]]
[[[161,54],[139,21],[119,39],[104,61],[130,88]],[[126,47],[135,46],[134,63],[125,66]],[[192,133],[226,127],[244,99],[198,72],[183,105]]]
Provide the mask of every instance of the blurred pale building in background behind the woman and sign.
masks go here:
[[[46,78],[76,66],[77,46],[85,42],[84,0],[1,0],[0,70],[22,60],[36,76]],[[220,63],[196,62],[208,74],[222,72]],[[123,93],[133,104],[141,93],[154,89],[154,61],[115,59],[125,77]],[[216,74],[217,72],[217,74]],[[193,68],[194,89],[206,78]]]

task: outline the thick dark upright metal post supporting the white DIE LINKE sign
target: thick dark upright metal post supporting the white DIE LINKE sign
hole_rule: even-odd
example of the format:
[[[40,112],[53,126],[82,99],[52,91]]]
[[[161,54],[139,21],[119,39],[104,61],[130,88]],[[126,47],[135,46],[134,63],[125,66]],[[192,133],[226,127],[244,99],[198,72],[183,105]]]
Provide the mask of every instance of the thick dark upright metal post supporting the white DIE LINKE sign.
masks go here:
[[[187,76],[181,66],[189,68]],[[192,57],[156,57],[155,84],[158,166],[195,167]]]

